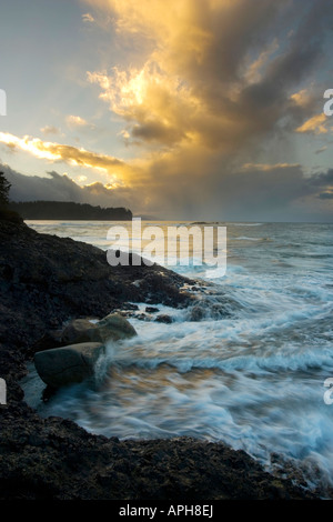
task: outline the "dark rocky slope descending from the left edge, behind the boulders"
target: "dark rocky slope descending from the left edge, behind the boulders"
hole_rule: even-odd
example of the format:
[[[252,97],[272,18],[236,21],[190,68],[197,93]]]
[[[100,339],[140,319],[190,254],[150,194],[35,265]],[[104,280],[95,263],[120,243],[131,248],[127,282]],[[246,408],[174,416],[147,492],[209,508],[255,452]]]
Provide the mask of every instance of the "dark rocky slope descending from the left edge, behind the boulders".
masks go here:
[[[90,244],[0,220],[0,342],[16,347],[16,358],[21,351],[31,357],[47,331],[71,318],[102,319],[127,301],[184,307],[186,281],[160,265],[110,267],[105,252]],[[6,373],[3,357],[1,350]]]

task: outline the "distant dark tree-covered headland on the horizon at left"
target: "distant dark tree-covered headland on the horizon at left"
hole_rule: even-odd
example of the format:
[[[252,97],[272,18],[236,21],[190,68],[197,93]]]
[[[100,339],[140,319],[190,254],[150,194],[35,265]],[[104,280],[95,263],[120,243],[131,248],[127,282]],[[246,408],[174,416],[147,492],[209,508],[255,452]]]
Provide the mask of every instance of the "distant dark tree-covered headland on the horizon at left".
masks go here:
[[[101,208],[72,201],[23,201],[10,202],[9,210],[18,212],[24,220],[131,220],[132,212],[123,207]]]

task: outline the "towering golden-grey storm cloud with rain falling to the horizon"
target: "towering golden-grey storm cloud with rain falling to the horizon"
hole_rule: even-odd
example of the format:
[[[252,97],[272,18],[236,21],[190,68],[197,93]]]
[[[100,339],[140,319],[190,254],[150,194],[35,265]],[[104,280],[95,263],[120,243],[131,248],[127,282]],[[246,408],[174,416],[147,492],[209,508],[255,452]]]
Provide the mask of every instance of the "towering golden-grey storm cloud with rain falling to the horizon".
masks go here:
[[[313,81],[333,21],[326,2],[85,3],[111,13],[120,41],[142,48],[137,66],[88,80],[123,119],[125,143],[141,150],[151,204],[222,217],[232,198],[239,212],[287,208],[293,217],[291,202],[313,193],[301,165],[282,158],[264,168],[258,158],[276,140],[330,129]]]

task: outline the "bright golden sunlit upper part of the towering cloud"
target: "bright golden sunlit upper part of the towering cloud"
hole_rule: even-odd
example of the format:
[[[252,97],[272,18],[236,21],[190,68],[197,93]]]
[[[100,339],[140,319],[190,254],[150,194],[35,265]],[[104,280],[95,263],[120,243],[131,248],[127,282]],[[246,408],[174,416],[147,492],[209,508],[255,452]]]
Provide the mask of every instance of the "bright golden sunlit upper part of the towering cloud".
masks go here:
[[[190,143],[231,153],[254,132],[266,131],[263,117],[254,118],[256,108],[250,110],[242,94],[262,79],[278,39],[264,51],[254,46],[250,60],[244,34],[236,38],[231,28],[236,24],[246,34],[259,14],[262,22],[275,8],[260,1],[240,18],[244,0],[88,3],[111,10],[120,36],[142,38],[149,49],[140,68],[88,72],[110,110],[130,122],[135,142],[163,148]]]

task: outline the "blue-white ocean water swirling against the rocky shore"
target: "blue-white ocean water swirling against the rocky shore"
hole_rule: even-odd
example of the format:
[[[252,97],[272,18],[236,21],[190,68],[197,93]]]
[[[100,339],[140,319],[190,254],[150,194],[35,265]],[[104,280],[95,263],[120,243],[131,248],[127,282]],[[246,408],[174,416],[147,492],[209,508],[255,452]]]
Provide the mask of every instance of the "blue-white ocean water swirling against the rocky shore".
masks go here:
[[[28,224],[107,250],[114,223]],[[93,433],[223,441],[268,470],[285,460],[310,485],[333,484],[333,404],[324,401],[324,382],[333,378],[333,225],[220,224],[226,273],[206,281],[200,321],[190,309],[162,305],[172,324],[131,318],[138,337],[108,344],[94,385],[62,389],[43,403],[31,367],[27,401],[41,415],[72,419]],[[206,278],[193,263],[172,269]]]

